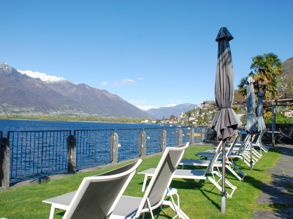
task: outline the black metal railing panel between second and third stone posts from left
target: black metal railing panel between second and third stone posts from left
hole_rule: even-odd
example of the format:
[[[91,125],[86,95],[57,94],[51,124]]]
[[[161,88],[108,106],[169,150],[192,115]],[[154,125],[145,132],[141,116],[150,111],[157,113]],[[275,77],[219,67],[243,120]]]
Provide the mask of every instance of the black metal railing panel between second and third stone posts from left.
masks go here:
[[[111,134],[114,129],[74,130],[76,137],[76,167],[110,163]]]

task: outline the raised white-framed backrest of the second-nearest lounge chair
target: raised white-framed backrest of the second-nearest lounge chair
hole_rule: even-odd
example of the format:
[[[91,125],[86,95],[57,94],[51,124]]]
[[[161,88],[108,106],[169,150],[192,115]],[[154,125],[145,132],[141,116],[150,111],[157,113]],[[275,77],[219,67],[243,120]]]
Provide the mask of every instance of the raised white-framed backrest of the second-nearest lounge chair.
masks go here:
[[[189,142],[183,145],[179,145],[177,147],[166,148],[154,172],[154,175],[151,178],[149,186],[147,187],[147,190],[144,193],[144,197],[142,198],[142,201],[139,205],[135,218],[139,217],[142,210],[145,208],[150,208],[156,203],[158,204],[156,204],[156,206],[153,206],[153,208],[151,209],[154,209],[157,206],[160,206],[160,203],[164,200],[166,196],[167,188],[171,184],[173,175],[188,145],[189,145]],[[150,203],[150,206],[148,202]]]

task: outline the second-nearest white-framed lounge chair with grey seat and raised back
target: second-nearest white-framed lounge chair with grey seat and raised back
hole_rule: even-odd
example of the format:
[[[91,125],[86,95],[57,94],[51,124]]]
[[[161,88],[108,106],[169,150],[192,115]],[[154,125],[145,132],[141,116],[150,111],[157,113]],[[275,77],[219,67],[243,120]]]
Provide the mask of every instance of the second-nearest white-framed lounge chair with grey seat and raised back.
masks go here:
[[[154,219],[153,210],[163,204],[170,206],[176,212],[175,217],[189,219],[175,204],[172,196],[171,201],[164,200],[174,173],[188,145],[189,142],[178,147],[167,147],[157,168],[154,168],[153,178],[144,196],[139,198],[122,195],[110,218],[138,218],[141,214],[150,211],[151,217]]]

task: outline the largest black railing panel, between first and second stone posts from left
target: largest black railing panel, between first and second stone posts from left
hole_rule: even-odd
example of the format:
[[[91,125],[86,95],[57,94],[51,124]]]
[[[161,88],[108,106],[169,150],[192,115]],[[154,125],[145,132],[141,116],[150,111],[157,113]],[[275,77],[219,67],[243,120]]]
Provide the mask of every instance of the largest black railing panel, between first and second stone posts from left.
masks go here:
[[[8,131],[10,179],[67,169],[71,131]]]

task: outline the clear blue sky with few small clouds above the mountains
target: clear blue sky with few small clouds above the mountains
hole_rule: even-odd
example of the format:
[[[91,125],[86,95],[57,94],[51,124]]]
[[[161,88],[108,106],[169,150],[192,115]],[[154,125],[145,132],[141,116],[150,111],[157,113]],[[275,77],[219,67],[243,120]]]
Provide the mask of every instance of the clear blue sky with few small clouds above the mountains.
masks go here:
[[[224,3],[223,3],[224,2]],[[163,107],[214,99],[215,38],[234,86],[251,58],[293,56],[293,1],[2,1],[0,62]]]

